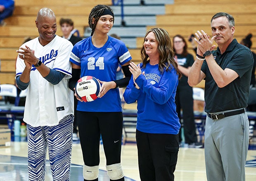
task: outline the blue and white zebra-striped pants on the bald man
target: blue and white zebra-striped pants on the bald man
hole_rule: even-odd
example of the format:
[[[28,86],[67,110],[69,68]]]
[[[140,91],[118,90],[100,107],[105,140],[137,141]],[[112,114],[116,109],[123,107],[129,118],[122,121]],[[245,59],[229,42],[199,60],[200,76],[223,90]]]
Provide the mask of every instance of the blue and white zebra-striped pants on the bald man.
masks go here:
[[[69,181],[73,119],[73,115],[65,116],[55,126],[27,125],[29,181],[45,180],[47,147],[53,181]]]

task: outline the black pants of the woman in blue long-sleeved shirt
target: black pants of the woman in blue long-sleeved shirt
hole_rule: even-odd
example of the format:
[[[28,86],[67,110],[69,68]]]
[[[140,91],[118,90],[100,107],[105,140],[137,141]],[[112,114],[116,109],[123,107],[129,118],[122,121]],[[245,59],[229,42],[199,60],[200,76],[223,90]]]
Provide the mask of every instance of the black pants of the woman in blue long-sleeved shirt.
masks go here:
[[[174,181],[178,159],[178,135],[136,130],[141,181]]]

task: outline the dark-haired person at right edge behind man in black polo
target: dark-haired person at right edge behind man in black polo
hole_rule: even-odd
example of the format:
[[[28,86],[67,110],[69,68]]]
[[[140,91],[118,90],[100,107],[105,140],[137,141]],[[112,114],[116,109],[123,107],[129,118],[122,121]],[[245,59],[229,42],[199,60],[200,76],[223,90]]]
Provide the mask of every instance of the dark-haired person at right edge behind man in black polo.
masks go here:
[[[252,34],[249,33],[244,39],[241,40],[240,44],[247,46],[249,49],[251,49],[251,37]],[[255,80],[255,67],[256,67],[256,53],[252,52],[252,56],[254,57],[254,65],[252,67],[252,72],[251,72],[251,83],[250,86],[251,87],[256,87],[256,80]]]

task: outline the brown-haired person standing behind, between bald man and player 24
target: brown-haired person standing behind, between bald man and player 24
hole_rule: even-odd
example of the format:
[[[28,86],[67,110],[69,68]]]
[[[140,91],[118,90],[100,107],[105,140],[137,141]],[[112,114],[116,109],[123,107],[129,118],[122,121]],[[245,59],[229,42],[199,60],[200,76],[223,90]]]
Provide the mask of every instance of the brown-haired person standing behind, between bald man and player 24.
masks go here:
[[[68,39],[73,45],[77,42],[81,41],[81,37],[76,37],[73,35],[74,30],[74,23],[71,19],[64,19],[61,18],[59,20],[59,24],[61,26],[63,38]],[[76,107],[77,107],[78,100],[74,96],[74,122],[73,122],[73,141],[78,141],[78,125],[77,125],[77,114],[76,114]]]

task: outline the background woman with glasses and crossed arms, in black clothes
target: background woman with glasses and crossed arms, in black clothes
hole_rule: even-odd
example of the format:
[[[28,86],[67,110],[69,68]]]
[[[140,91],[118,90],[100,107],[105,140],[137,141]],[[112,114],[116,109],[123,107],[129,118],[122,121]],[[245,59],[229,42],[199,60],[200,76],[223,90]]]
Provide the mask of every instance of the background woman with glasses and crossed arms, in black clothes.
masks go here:
[[[187,42],[181,35],[175,35],[173,37],[173,51],[175,53],[175,61],[178,64],[178,70],[182,73],[176,90],[175,103],[180,121],[182,110],[185,143],[188,144],[189,147],[201,147],[201,144],[197,143],[196,127],[194,123],[193,89],[187,83],[188,72],[194,63],[194,58],[187,52]],[[179,142],[181,143],[181,129],[179,131]]]

